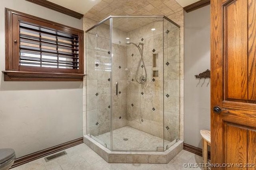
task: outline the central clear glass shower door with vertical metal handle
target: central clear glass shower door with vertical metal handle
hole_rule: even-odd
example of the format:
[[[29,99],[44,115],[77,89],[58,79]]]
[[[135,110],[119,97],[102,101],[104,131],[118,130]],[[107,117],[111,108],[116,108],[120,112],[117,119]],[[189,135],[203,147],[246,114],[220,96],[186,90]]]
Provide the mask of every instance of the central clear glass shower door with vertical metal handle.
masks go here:
[[[112,150],[163,151],[163,21],[111,19]]]

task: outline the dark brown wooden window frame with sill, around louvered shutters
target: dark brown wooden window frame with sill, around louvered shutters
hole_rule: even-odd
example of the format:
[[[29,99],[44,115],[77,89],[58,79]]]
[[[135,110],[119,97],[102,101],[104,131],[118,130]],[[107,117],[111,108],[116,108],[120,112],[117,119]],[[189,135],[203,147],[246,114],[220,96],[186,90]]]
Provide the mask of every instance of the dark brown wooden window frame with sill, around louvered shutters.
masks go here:
[[[78,69],[22,66],[19,64],[19,21],[79,37]],[[4,81],[83,81],[84,31],[5,8],[6,61]],[[15,42],[14,42],[15,41]]]

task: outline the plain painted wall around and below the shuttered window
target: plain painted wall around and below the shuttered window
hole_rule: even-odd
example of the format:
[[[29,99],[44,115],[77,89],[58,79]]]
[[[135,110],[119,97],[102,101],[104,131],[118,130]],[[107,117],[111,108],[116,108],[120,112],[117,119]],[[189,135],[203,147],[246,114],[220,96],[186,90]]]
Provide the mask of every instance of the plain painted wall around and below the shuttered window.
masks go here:
[[[4,8],[82,29],[82,20],[25,0],[0,3],[0,68],[5,69]],[[0,148],[16,156],[82,137],[82,82],[6,82],[0,74]]]

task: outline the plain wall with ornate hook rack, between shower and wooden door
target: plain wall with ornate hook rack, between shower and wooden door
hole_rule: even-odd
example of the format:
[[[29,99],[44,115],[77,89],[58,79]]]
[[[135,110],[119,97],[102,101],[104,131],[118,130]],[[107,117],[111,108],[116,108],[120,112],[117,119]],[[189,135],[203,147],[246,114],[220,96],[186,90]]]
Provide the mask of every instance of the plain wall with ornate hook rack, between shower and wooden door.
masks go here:
[[[210,130],[210,6],[184,15],[184,142],[202,148],[200,130]]]

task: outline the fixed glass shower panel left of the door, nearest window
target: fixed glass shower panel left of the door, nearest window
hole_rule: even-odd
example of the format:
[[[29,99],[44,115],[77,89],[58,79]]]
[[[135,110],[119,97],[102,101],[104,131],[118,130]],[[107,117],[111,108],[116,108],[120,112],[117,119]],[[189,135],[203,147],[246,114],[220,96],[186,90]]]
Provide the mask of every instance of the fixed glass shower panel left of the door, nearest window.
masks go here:
[[[111,58],[109,20],[86,33],[87,134],[111,149]]]

